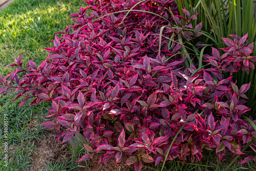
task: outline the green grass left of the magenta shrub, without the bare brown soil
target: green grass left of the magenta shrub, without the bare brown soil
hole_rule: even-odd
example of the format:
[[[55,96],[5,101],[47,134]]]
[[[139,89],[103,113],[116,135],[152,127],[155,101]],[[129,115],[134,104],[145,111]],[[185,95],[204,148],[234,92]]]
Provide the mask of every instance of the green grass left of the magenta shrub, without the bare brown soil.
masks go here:
[[[71,25],[72,18],[85,4],[80,0],[16,0],[0,11],[0,75],[7,75],[12,68],[6,67],[24,53],[23,62],[34,58],[39,64],[48,55],[42,48],[52,47],[55,32]],[[31,156],[35,152],[34,141],[45,138],[45,129],[39,123],[45,122],[50,103],[34,106],[22,99],[12,101],[17,92],[0,94],[0,170],[30,170]],[[8,118],[8,167],[4,166],[4,116]],[[69,152],[67,152],[69,153]],[[78,170],[78,157],[84,152],[70,148],[71,156],[63,162],[48,163],[46,170]]]

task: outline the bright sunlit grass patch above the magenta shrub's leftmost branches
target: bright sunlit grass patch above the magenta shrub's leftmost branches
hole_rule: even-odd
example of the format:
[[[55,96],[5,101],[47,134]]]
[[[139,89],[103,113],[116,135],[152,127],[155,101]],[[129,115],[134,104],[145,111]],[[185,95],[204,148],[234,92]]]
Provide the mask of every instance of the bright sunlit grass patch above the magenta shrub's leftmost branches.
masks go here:
[[[17,0],[0,12],[0,74],[14,56],[24,53],[23,61],[35,58],[38,64],[48,55],[55,32],[71,25],[68,15],[85,4],[80,0]]]

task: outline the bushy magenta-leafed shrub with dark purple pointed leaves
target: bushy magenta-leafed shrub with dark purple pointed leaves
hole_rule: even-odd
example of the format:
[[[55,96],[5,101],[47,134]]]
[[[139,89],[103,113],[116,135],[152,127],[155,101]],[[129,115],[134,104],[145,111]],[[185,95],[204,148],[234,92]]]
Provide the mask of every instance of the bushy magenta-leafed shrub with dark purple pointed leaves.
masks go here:
[[[29,98],[34,98],[31,104],[51,101],[47,117],[55,122],[42,125],[60,130],[57,140],[63,137],[62,142],[82,132],[91,143],[84,145],[90,154],[79,161],[101,153],[99,162],[126,158],[126,164],[138,171],[142,162],[157,165],[165,157],[201,160],[203,149],[215,148],[220,160],[226,149],[243,154],[241,147],[256,136],[240,119],[250,110],[243,105],[250,84],[239,89],[222,72],[253,67],[253,45],[246,46],[246,36],[239,42],[224,39],[229,49],[223,49],[227,53],[222,56],[216,49],[205,56],[211,68],[185,68],[178,35],[182,28],[192,27],[196,15],[190,17],[184,10],[190,19],[179,16],[173,1],[87,3],[71,15],[76,17],[74,31],[67,27],[63,37],[56,36],[54,47],[45,48],[52,54],[39,66],[30,60],[24,67],[22,56],[15,58],[9,66],[17,69],[0,76],[0,93],[15,88],[20,91],[16,98],[25,97],[20,105]],[[185,26],[161,29],[181,25],[181,19]],[[195,29],[199,31],[201,24]],[[184,33],[191,41],[198,36]],[[170,46],[169,39],[175,40]],[[19,72],[27,74],[19,77]]]

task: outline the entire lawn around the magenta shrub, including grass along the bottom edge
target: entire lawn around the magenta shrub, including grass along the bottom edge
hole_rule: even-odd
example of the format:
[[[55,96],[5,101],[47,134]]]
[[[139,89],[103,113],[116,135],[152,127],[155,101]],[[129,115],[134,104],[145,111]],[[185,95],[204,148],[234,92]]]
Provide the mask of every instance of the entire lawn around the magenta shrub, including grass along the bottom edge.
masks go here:
[[[7,8],[0,11],[0,75],[6,75],[12,68],[6,67],[12,63],[14,56],[17,57],[24,53],[23,61],[34,58],[39,64],[48,55],[42,49],[52,47],[53,43],[49,40],[54,39],[55,32],[62,31],[66,25],[72,24],[72,19],[68,15],[78,11],[83,5],[79,0],[16,0]],[[50,103],[41,103],[34,106],[27,102],[19,108],[21,99],[12,101],[17,93],[8,91],[0,94],[0,125],[4,125],[4,118],[8,118],[8,147],[9,162],[8,167],[4,166],[3,160],[0,161],[0,170],[37,170],[35,159],[37,156],[47,154],[47,146],[56,145],[56,149],[65,152],[56,152],[54,161],[48,161],[47,165],[40,166],[41,170],[87,170],[88,163],[76,163],[77,159],[85,153],[82,148],[67,147],[61,142],[56,142],[56,133],[53,130],[45,129],[39,123],[45,122],[46,114],[50,108]],[[0,127],[1,145],[4,143],[4,128]],[[51,137],[51,138],[49,138]],[[52,141],[47,141],[47,139]],[[50,144],[49,144],[50,143]],[[44,152],[45,150],[45,152]],[[50,152],[49,152],[50,153]],[[232,160],[231,155],[219,163],[214,151],[204,152],[206,157],[202,161],[194,163],[179,162],[178,159],[166,163],[164,170],[224,170],[225,166]],[[4,149],[1,146],[0,158],[4,158]],[[55,155],[55,154],[53,154]],[[40,158],[44,159],[44,158]],[[51,159],[51,158],[50,158]],[[236,163],[242,161],[239,158]],[[97,163],[97,162],[95,162]],[[41,164],[41,163],[39,163]],[[144,166],[145,170],[161,170],[161,164]],[[124,170],[133,170],[130,167]],[[243,165],[234,164],[229,170],[256,170],[256,164],[248,162]],[[99,170],[100,167],[99,167]]]

